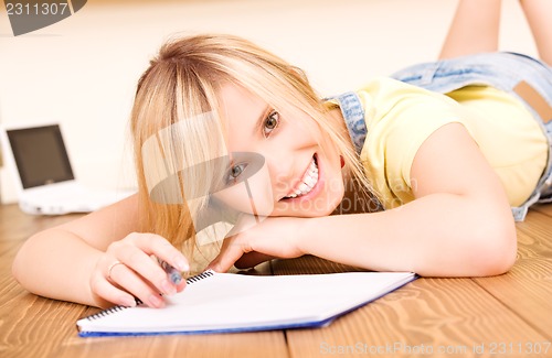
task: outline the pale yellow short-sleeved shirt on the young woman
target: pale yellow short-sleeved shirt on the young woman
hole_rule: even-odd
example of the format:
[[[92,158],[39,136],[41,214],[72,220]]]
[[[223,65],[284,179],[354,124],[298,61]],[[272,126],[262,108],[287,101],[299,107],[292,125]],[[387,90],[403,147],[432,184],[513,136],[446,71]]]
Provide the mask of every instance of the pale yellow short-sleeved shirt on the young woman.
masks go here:
[[[360,156],[388,209],[414,199],[414,156],[447,123],[465,126],[498,174],[511,206],[529,198],[545,167],[548,144],[539,124],[520,101],[492,87],[469,86],[445,96],[379,78],[358,95],[368,129]]]

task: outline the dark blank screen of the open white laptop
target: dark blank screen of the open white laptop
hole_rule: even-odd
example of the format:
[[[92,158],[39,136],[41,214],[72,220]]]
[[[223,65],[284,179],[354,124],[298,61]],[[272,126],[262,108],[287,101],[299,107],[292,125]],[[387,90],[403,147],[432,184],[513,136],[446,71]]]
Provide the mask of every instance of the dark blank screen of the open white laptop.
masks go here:
[[[7,132],[23,188],[74,180],[57,124]]]

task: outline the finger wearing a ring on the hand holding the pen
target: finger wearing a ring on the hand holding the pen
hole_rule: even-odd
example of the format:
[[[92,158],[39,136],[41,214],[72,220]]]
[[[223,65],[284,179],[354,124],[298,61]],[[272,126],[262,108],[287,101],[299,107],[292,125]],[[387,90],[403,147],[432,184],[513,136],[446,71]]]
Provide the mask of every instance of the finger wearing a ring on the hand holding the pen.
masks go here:
[[[109,280],[106,280],[106,282],[110,282],[113,288],[115,288],[116,284],[125,289],[128,293],[138,297],[150,307],[160,308],[164,306],[164,300],[159,294],[159,291],[145,282],[141,275],[137,274],[126,264],[117,264],[114,267]]]

